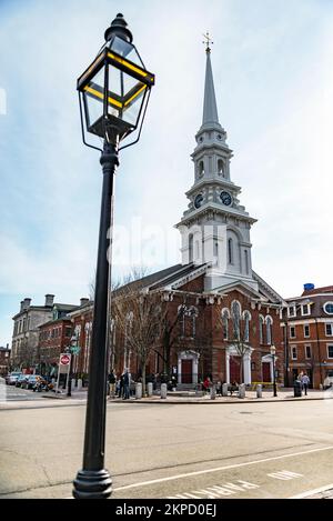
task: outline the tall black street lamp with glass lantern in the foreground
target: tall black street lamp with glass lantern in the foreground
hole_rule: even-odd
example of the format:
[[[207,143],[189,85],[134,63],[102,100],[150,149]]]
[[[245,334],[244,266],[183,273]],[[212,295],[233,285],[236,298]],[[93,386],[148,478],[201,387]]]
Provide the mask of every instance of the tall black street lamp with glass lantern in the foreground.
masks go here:
[[[105,31],[105,43],[98,57],[78,80],[82,138],[84,144],[102,153],[103,188],[83,467],[73,482],[75,499],[108,499],[112,493],[111,475],[104,469],[104,445],[113,177],[119,166],[119,151],[140,139],[149,94],[154,84],[154,74],[145,69],[127,26],[123,16],[118,14]],[[89,133],[102,138],[103,150],[87,142],[84,127]],[[135,129],[139,129],[138,138],[119,148],[120,142]]]

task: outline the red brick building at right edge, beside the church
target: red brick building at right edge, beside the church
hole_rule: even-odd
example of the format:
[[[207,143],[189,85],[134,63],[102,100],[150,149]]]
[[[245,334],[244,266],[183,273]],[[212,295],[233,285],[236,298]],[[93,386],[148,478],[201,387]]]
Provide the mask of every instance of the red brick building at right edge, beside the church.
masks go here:
[[[326,378],[333,381],[333,285],[305,284],[286,303],[281,327],[289,384],[303,371],[317,389]]]

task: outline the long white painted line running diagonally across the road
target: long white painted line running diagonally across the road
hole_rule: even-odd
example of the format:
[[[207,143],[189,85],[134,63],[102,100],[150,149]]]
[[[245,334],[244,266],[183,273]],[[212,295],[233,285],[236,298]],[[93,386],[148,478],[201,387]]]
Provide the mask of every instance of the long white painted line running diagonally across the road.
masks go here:
[[[213,472],[221,472],[222,470],[239,469],[240,467],[250,467],[250,465],[254,465],[258,463],[265,463],[268,461],[276,461],[276,460],[282,460],[285,458],[294,458],[296,455],[311,454],[313,452],[321,452],[321,451],[332,450],[332,449],[333,449],[333,445],[330,445],[330,447],[323,447],[321,449],[312,449],[312,450],[303,451],[303,452],[294,452],[292,454],[275,455],[273,458],[265,458],[263,460],[248,461],[245,463],[236,463],[236,464],[226,465],[226,467],[218,467],[216,469],[199,470],[196,472],[188,472],[185,474],[176,474],[176,475],[170,475],[169,478],[160,478],[158,480],[142,481],[141,483],[132,483],[125,487],[119,487],[118,489],[113,489],[113,490],[114,492],[117,492],[119,490],[137,489],[140,487],[147,487],[149,484],[163,483],[165,481],[174,481],[174,480],[179,480],[182,478],[191,478],[192,475],[210,474]]]

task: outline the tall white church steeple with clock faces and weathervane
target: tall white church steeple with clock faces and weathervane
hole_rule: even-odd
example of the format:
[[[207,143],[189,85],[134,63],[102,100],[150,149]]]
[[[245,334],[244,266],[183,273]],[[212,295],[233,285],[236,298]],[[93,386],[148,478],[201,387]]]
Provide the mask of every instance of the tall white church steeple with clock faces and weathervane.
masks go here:
[[[192,153],[194,183],[186,192],[189,208],[176,224],[182,236],[182,263],[208,264],[206,290],[240,280],[255,289],[250,230],[256,221],[241,206],[241,188],[230,178],[233,152],[219,121],[209,34],[205,39],[203,118]]]

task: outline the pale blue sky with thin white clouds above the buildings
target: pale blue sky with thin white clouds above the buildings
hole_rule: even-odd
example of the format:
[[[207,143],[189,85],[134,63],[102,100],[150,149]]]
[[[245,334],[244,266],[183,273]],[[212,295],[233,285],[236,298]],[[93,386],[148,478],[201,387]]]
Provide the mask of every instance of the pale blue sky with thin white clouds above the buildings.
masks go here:
[[[332,1],[0,0],[0,344],[24,297],[89,293],[101,174],[81,142],[75,81],[118,12],[157,86],[140,143],[121,154],[114,275],[133,260],[179,262],[209,30],[232,180],[259,219],[253,268],[284,297],[333,283]]]

